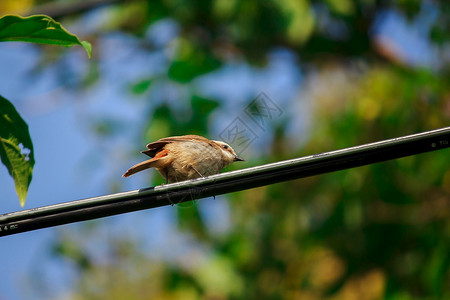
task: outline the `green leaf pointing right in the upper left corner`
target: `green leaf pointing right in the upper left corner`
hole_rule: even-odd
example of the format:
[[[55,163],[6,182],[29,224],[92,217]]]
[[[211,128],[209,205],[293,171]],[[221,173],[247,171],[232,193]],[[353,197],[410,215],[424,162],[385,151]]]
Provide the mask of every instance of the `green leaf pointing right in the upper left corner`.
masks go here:
[[[92,47],[89,42],[80,41],[76,35],[68,32],[60,23],[49,16],[34,15],[20,17],[7,15],[0,18],[0,42],[31,42],[71,47],[82,46],[89,58]]]

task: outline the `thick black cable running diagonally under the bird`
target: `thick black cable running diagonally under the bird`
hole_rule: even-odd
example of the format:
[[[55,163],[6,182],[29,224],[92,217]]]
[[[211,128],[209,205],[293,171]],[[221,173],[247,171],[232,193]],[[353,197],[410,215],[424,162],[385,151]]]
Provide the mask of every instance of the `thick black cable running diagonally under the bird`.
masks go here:
[[[0,215],[0,236],[102,218],[450,147],[450,127],[205,178]]]

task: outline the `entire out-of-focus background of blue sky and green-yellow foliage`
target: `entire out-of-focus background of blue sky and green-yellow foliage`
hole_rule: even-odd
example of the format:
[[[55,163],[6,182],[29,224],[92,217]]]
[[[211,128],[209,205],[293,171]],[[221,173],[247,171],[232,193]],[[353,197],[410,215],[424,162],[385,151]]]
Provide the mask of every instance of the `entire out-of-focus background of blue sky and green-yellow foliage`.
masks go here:
[[[228,170],[450,124],[446,0],[2,0],[7,13],[93,45],[89,60],[0,44],[0,94],[35,148],[25,208],[160,184],[121,178],[147,142],[220,139],[236,120],[246,162]],[[258,99],[278,108],[259,123]],[[448,157],[4,237],[0,299],[449,299]],[[3,167],[0,199],[21,209]]]

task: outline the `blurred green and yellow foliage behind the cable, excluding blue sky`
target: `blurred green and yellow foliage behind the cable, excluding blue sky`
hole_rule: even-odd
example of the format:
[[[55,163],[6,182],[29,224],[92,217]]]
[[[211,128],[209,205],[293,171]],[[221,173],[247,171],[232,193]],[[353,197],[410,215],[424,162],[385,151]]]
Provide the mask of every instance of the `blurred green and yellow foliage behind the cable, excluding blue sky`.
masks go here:
[[[412,21],[429,5],[419,0],[117,4],[118,11],[132,6],[135,12],[115,15],[111,24],[117,29],[142,36],[156,21],[171,19],[180,30],[166,77],[143,78],[131,93],[145,95],[162,80],[185,87],[189,96],[181,105],[152,99],[156,104],[143,112],[150,121],[142,124],[139,145],[170,135],[208,136],[221,102],[201,96],[193,81],[233,59],[264,66],[278,47],[295,53],[298,68],[306,69],[302,97],[293,102],[311,99],[309,138],[293,146],[288,125],[297,112],[284,107],[289,116],[274,130],[267,156],[252,160],[249,153],[249,164],[448,126],[445,55],[437,70],[412,67],[377,43],[372,31],[382,12],[398,11]],[[444,53],[449,2],[432,5],[437,17],[430,43]],[[100,263],[89,258],[88,245],[99,234],[95,227],[63,234],[56,252],[80,272],[72,298],[450,298],[448,151],[234,193],[227,204],[231,225],[222,233],[208,228],[201,202],[176,207],[178,229],[194,250],[182,249],[172,261],[150,259],[138,241],[117,236],[109,244],[112,259]]]

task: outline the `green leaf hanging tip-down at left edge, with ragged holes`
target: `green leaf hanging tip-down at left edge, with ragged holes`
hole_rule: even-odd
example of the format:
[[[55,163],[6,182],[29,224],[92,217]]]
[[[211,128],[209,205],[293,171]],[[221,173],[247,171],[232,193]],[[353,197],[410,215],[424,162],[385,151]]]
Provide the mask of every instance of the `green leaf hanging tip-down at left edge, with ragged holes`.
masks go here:
[[[0,96],[0,158],[14,179],[20,205],[24,206],[34,166],[28,125],[14,106]]]

